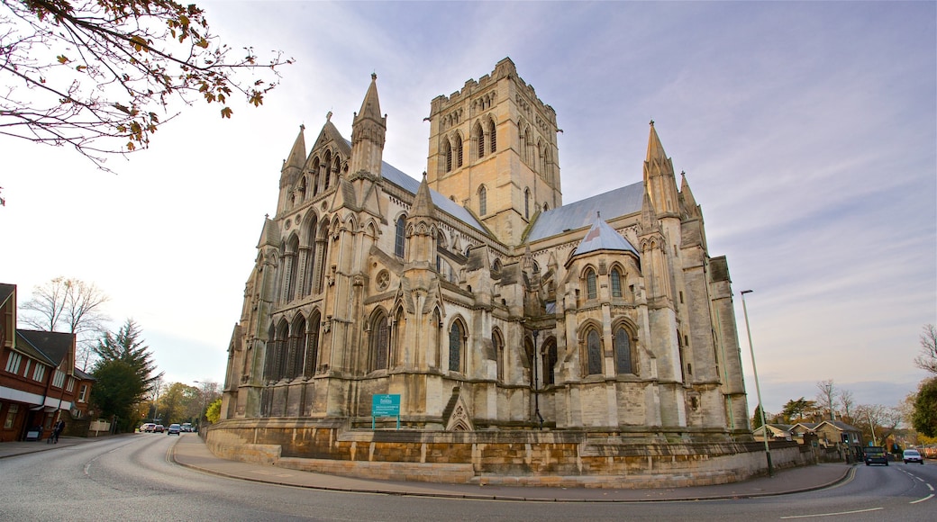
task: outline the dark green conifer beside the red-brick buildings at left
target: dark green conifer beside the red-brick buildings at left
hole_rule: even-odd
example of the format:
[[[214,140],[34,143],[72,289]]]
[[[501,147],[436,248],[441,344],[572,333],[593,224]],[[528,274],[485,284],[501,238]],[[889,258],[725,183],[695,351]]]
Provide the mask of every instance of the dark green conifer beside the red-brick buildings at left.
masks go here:
[[[156,373],[156,363],[153,362],[150,348],[140,339],[140,334],[139,326],[132,319],[127,319],[116,334],[106,332],[95,346],[99,358],[92,372],[97,379],[92,389],[97,389],[102,379],[117,379],[116,384],[106,386],[109,392],[107,401],[97,402],[105,414],[126,418],[134,405],[145,399],[161,382],[163,374]],[[136,423],[136,419],[132,420]]]

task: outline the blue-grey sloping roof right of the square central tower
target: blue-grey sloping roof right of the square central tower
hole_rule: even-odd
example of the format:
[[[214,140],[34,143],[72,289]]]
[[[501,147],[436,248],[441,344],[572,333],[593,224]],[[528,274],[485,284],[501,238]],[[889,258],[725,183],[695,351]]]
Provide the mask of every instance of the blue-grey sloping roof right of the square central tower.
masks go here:
[[[550,238],[567,230],[590,225],[596,211],[601,212],[604,219],[640,212],[643,201],[644,181],[638,181],[598,196],[547,210],[540,214],[530,228],[527,240],[529,242]]]

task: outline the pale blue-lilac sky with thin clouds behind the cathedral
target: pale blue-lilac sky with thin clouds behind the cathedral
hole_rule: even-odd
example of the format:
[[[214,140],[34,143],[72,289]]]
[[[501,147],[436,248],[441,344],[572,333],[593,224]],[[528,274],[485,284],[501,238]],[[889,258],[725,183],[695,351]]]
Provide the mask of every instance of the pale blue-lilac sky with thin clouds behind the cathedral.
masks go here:
[[[510,57],[557,112],[563,201],[642,179],[653,119],[728,259],[749,405],[833,380],[895,406],[937,323],[934,2],[200,2],[235,49],[296,60],[261,108],[177,105],[97,170],[0,138],[0,282],[95,283],[167,382],[223,382],[279,169],[299,126],[350,138],[372,72],[384,160],[419,179],[430,101]]]

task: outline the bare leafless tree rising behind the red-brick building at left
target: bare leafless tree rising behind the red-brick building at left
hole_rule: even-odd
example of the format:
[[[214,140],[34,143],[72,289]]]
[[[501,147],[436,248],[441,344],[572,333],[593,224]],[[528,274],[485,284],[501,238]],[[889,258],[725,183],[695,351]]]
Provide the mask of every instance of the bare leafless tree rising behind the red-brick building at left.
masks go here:
[[[57,277],[33,287],[33,297],[22,305],[27,313],[21,320],[40,330],[75,334],[75,365],[87,370],[94,340],[111,320],[102,310],[110,299],[94,283]]]

